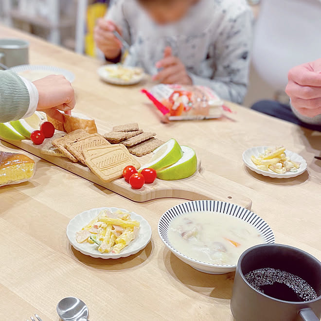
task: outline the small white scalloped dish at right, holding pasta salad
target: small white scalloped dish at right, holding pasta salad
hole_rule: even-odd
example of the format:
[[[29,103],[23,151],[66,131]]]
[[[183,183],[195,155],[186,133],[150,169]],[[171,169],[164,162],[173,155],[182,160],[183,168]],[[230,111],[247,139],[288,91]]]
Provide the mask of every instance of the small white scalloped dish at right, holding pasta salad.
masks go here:
[[[290,150],[285,150],[285,155],[288,156],[291,160],[298,161],[301,163],[300,168],[297,172],[286,172],[285,174],[278,174],[274,173],[270,169],[267,171],[262,171],[261,169],[258,169],[256,165],[252,162],[251,156],[254,155],[254,157],[258,157],[260,154],[264,153],[264,151],[268,148],[268,146],[258,146],[258,147],[251,147],[247,149],[243,153],[243,161],[247,167],[250,168],[253,172],[257,174],[261,174],[267,177],[271,178],[293,178],[301,175],[304,173],[307,169],[306,161],[303,159],[302,156],[300,156],[297,153],[291,152]]]

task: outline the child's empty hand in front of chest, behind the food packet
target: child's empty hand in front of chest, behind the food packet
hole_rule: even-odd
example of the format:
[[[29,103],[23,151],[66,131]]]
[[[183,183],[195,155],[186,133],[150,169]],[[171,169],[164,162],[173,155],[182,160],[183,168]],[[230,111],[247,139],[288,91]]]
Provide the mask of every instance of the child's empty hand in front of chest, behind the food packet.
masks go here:
[[[153,77],[153,80],[158,80],[163,84],[193,84],[184,64],[172,55],[170,47],[165,48],[164,58],[156,63],[156,68],[162,68],[162,70]]]

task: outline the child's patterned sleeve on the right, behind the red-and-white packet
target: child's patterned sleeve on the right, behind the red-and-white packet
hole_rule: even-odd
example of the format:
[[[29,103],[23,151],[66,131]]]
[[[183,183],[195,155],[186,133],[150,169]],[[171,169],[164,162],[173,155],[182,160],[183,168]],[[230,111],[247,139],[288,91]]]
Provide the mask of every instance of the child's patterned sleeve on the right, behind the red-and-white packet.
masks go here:
[[[222,98],[241,104],[247,93],[252,45],[252,12],[250,8],[229,17],[215,41],[211,66],[213,79],[190,73],[195,85],[207,86]]]

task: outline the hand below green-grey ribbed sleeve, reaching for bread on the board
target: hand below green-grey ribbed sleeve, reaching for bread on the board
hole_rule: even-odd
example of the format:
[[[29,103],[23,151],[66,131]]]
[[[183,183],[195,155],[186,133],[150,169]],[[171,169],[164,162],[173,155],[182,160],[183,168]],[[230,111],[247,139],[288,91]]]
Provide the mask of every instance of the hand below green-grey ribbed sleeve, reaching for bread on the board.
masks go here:
[[[33,84],[39,94],[37,110],[63,123],[63,115],[58,110],[70,115],[71,109],[75,107],[75,93],[71,83],[63,75],[50,75]]]

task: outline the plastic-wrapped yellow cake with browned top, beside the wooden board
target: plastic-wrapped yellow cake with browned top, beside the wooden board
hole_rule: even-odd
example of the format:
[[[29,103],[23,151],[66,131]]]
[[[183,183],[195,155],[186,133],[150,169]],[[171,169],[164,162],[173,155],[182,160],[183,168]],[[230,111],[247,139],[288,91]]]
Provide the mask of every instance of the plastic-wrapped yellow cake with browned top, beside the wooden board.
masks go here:
[[[28,156],[0,151],[0,187],[25,182],[35,170],[36,163]]]

